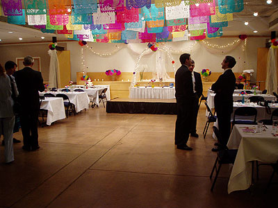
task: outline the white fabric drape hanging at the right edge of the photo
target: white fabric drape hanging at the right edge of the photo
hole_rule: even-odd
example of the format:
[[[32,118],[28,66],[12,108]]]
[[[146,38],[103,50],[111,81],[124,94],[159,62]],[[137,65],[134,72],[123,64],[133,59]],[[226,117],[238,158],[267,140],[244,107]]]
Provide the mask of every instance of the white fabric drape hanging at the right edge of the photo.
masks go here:
[[[277,93],[277,60],[276,60],[276,50],[270,47],[268,51],[268,67],[266,73],[266,83],[265,89],[268,90],[268,94],[272,92]]]

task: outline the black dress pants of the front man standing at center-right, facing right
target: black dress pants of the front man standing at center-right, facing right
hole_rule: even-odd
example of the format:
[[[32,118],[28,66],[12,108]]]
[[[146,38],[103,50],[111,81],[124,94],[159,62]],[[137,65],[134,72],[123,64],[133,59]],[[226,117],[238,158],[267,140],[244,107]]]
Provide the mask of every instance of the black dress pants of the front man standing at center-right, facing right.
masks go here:
[[[185,146],[190,134],[192,117],[192,102],[177,102],[177,121],[174,134],[174,144]]]

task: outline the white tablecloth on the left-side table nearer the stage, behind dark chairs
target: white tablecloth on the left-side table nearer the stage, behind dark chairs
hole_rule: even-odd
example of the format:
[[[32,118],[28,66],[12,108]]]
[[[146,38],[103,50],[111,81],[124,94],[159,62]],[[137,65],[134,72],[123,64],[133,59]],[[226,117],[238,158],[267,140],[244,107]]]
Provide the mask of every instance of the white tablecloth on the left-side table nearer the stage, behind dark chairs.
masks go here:
[[[45,92],[40,92],[40,96],[43,96]],[[86,92],[50,92],[51,94],[66,94],[70,102],[75,105],[76,112],[80,112],[83,109],[88,109],[90,99]]]

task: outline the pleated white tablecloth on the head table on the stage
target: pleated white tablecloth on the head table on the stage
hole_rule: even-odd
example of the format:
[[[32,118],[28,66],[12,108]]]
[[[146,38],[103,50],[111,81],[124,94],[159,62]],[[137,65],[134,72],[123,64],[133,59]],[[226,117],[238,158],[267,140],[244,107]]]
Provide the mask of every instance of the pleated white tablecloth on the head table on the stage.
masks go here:
[[[174,87],[132,87],[129,98],[175,99]]]

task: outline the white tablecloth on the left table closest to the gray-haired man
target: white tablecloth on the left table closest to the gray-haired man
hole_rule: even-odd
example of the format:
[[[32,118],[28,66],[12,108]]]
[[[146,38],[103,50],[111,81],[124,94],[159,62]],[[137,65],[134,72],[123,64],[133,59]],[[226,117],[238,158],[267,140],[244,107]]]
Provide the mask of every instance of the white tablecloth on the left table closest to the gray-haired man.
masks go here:
[[[42,100],[40,109],[47,110],[47,125],[52,122],[65,119],[65,108],[63,98],[45,98]]]

